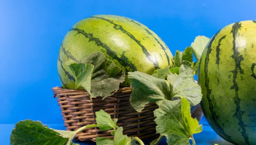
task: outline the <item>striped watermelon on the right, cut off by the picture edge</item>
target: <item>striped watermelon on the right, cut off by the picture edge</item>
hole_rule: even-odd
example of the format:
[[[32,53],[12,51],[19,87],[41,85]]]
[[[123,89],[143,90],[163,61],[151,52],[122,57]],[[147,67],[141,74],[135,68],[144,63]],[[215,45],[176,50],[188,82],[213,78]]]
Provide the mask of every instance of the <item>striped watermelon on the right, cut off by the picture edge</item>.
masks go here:
[[[198,73],[209,125],[235,145],[256,145],[256,21],[218,31],[204,49]]]

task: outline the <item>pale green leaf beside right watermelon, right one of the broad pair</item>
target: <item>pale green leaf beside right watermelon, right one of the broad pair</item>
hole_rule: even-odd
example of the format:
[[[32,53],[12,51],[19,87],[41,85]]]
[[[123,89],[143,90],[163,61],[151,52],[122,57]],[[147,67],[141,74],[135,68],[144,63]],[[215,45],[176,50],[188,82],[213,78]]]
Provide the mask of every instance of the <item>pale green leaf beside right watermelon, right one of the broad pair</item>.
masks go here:
[[[172,100],[185,97],[191,106],[197,105],[201,99],[201,87],[195,83],[193,68],[188,65],[180,66],[179,75],[169,74],[167,80],[172,84]]]

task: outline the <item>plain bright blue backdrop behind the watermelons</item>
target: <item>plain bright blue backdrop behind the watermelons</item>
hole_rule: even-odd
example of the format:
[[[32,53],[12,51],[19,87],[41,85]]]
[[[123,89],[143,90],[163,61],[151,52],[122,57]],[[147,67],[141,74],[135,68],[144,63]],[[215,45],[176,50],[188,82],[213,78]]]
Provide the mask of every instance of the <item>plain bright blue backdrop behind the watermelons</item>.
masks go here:
[[[95,14],[130,17],[157,33],[175,54],[195,36],[212,37],[230,23],[255,19],[255,5],[254,0],[0,0],[0,124],[7,131],[2,133],[7,134],[5,143],[12,124],[20,120],[63,123],[51,88],[60,86],[61,41],[79,20]]]

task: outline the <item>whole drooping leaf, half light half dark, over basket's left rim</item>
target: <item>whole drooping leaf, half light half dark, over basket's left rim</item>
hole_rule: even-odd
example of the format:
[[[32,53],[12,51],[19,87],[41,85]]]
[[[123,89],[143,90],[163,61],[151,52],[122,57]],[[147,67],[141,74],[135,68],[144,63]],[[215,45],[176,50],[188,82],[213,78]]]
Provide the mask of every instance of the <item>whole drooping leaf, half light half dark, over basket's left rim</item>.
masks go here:
[[[76,88],[84,88],[91,96],[104,96],[105,99],[119,89],[119,84],[125,80],[125,71],[116,66],[113,61],[105,58],[102,52],[94,52],[81,63],[74,60],[66,62],[76,78]]]

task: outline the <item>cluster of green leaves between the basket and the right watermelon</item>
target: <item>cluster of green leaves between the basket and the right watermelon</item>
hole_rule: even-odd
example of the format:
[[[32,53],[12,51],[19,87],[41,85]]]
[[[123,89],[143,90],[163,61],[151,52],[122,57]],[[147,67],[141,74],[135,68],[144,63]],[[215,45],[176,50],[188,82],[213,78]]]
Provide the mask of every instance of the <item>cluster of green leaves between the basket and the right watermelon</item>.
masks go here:
[[[189,139],[195,140],[193,134],[202,131],[197,119],[193,119],[190,106],[198,105],[202,99],[201,87],[195,82],[198,61],[209,39],[198,36],[183,52],[176,51],[172,60],[174,66],[157,69],[152,75],[138,71],[128,72],[133,88],[130,102],[138,112],[150,102],[159,108],[154,111],[157,133],[160,137],[151,145],[156,145],[166,136],[168,145],[190,145]],[[198,61],[193,62],[193,54]]]

